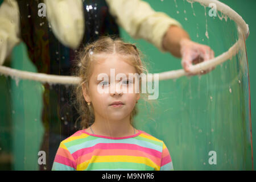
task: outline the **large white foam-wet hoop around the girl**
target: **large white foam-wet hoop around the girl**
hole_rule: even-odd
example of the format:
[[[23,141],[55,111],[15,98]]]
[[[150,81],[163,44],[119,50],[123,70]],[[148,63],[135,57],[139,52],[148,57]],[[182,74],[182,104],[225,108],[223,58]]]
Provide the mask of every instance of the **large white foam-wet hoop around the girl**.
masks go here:
[[[239,39],[237,42],[229,48],[228,51],[222,53],[221,55],[214,57],[214,59],[204,61],[202,63],[192,65],[191,72],[198,73],[202,70],[206,70],[212,67],[216,67],[218,64],[230,59],[239,51],[242,46],[243,38],[247,39],[249,36],[249,26],[245,23],[242,17],[236,13],[229,6],[217,0],[189,0],[199,2],[201,5],[209,6],[210,3],[215,3],[218,11],[223,14],[228,15],[230,19],[237,23],[238,31],[240,32]],[[242,36],[243,34],[243,36]],[[44,73],[32,73],[27,71],[19,71],[17,69],[0,66],[0,73],[6,76],[16,77],[19,79],[35,80],[39,82],[48,82],[51,84],[79,84],[80,78],[73,76],[58,76],[58,75],[47,75]],[[181,76],[187,76],[188,74],[184,69],[179,69],[176,71],[168,71],[159,73],[159,80],[168,80],[179,78]]]

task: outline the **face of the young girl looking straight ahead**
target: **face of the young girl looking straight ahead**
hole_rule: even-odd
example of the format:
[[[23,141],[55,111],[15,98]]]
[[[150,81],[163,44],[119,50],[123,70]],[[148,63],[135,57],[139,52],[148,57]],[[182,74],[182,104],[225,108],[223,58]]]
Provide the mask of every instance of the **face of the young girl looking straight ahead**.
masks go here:
[[[140,95],[138,92],[123,92],[123,89],[128,89],[130,86],[135,88],[135,80],[129,79],[129,73],[136,73],[135,68],[127,61],[125,57],[115,54],[97,55],[89,88],[88,90],[82,88],[86,102],[91,102],[93,105],[96,119],[120,121],[130,118]],[[116,76],[120,75],[118,73],[126,75],[127,78],[116,79]],[[105,77],[102,77],[102,74]],[[103,90],[105,92],[102,93]]]

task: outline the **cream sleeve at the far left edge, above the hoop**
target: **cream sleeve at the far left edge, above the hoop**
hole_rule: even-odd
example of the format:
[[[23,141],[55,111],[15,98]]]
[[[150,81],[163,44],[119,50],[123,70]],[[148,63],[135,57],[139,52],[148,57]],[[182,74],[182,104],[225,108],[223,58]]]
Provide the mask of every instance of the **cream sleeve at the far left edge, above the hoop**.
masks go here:
[[[14,0],[5,0],[0,5],[0,65],[20,42],[19,32],[18,3]]]

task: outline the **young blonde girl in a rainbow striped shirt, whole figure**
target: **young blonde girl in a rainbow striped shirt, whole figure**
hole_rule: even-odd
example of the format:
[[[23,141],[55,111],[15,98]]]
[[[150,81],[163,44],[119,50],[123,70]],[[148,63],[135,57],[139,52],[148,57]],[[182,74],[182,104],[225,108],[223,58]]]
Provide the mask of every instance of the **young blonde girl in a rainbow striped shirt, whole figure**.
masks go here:
[[[138,79],[129,73],[145,70],[140,53],[134,44],[107,36],[85,47],[76,74],[82,130],[60,143],[52,170],[173,170],[164,142],[132,125],[140,93],[125,91]],[[127,79],[113,80],[113,71]]]

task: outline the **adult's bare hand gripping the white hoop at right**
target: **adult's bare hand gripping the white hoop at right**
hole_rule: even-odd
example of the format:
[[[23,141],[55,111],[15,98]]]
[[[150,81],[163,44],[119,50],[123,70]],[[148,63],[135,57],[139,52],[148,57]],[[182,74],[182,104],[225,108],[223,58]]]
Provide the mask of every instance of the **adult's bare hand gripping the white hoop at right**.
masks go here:
[[[181,65],[189,76],[204,75],[215,68],[213,67],[207,70],[202,70],[197,73],[191,73],[190,70],[193,64],[198,64],[214,58],[214,51],[209,46],[193,42],[189,39],[182,39],[180,41],[180,53],[182,56]]]

